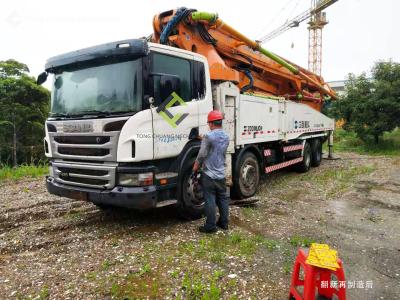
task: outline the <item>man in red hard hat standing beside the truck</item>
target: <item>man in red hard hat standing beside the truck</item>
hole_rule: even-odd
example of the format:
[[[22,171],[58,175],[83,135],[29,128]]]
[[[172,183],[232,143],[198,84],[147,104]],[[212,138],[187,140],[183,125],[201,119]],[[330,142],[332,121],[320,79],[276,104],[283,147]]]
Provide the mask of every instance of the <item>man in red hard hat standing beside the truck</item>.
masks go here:
[[[214,233],[217,226],[228,229],[229,204],[225,180],[225,152],[228,148],[229,137],[222,130],[222,113],[213,110],[208,114],[207,123],[210,131],[201,142],[199,154],[193,165],[193,173],[200,168],[203,172],[201,183],[205,200],[206,222],[199,227],[200,232]],[[219,220],[216,222],[216,206],[219,209]]]

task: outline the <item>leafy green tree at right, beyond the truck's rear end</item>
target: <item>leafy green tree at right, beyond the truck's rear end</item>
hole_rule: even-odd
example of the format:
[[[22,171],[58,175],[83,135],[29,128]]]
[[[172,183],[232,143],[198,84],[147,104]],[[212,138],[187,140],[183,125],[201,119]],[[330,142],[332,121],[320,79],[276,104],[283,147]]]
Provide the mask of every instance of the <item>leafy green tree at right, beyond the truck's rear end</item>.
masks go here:
[[[384,132],[400,126],[400,64],[378,62],[371,75],[349,74],[345,96],[333,104],[333,112],[344,119],[344,129],[378,144]]]

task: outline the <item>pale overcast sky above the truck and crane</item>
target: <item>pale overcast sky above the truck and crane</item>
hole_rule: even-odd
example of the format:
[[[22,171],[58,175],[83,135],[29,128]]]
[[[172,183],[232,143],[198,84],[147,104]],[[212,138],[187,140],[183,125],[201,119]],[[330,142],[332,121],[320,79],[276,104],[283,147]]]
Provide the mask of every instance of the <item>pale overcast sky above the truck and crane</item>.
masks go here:
[[[221,19],[252,39],[307,10],[311,0],[264,1],[19,1],[0,9],[0,60],[26,63],[37,76],[47,58],[101,43],[147,36],[158,12],[186,6],[218,12]],[[339,0],[326,9],[322,75],[326,81],[368,71],[378,60],[400,62],[400,1]],[[307,67],[308,31],[303,22],[264,44]]]

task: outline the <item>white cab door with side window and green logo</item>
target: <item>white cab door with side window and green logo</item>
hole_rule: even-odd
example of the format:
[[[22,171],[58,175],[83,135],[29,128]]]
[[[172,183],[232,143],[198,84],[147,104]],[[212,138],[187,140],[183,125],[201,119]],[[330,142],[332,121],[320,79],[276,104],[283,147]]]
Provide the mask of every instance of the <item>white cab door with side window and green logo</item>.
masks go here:
[[[193,93],[192,56],[153,52],[154,159],[177,156],[199,127],[198,101]]]

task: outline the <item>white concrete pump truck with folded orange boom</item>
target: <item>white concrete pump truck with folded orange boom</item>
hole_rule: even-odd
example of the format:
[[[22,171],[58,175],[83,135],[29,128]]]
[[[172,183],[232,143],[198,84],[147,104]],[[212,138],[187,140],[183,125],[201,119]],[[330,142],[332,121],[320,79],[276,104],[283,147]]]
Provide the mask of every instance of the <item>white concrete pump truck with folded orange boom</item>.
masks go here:
[[[191,169],[207,113],[224,115],[232,197],[252,197],[263,174],[318,166],[335,93],[317,76],[264,49],[217,14],[156,15],[153,34],[47,60],[53,74],[44,147],[50,193],[101,208],[175,205],[202,214]]]

